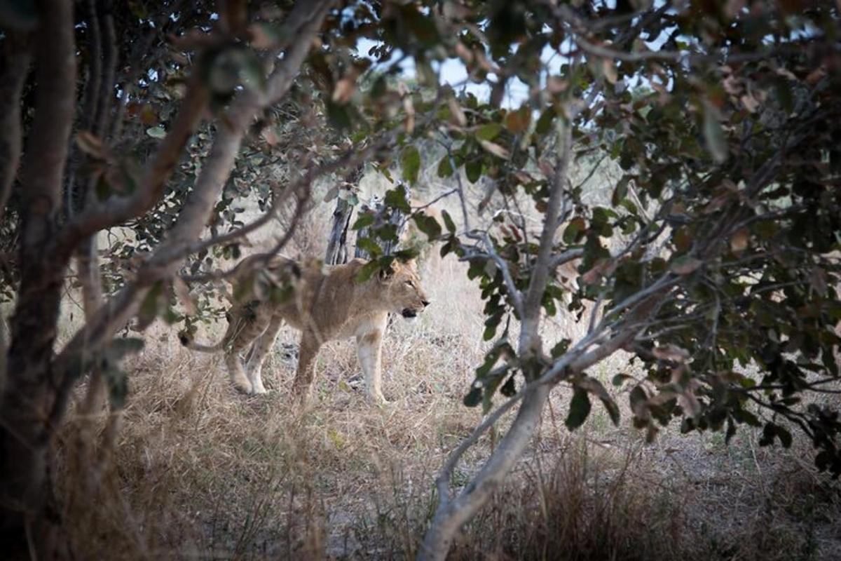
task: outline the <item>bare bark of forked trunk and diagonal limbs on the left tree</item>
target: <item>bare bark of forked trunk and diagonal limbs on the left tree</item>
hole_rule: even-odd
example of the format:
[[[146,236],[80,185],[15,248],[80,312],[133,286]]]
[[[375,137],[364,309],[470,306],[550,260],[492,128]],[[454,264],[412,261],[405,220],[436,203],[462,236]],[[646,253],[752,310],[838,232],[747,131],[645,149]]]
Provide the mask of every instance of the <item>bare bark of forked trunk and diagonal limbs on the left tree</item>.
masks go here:
[[[166,240],[137,272],[135,281],[99,305],[97,289],[86,308],[86,325],[56,356],[56,324],[67,264],[80,249],[92,256],[87,241],[110,225],[144,214],[164,192],[168,177],[182,157],[190,135],[204,115],[207,88],[198,77],[188,85],[181,111],[161,141],[144,179],[128,197],[89,204],[60,227],[61,188],[70,146],[76,94],[76,59],[71,0],[37,2],[40,28],[35,34],[35,113],[21,173],[22,214],[20,289],[11,322],[8,376],[0,400],[0,542],[3,558],[61,557],[50,528],[48,465],[50,440],[66,409],[73,384],[86,371],[83,364],[135,315],[155,283],[177,272],[185,247],[204,230],[216,200],[234,167],[243,136],[254,116],[288,92],[309,53],[315,33],[334,0],[301,0],[287,19],[289,41],[282,45],[265,92],[246,91],[220,119],[214,146],[188,202]],[[108,3],[102,6],[108,7]],[[103,21],[103,78],[99,83],[96,131],[108,130],[114,82],[114,61],[108,45],[114,40],[108,13]],[[102,103],[99,103],[102,102]],[[95,268],[95,262],[82,263]],[[91,272],[95,273],[95,272]],[[95,309],[95,311],[94,311]]]

